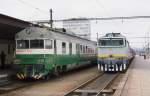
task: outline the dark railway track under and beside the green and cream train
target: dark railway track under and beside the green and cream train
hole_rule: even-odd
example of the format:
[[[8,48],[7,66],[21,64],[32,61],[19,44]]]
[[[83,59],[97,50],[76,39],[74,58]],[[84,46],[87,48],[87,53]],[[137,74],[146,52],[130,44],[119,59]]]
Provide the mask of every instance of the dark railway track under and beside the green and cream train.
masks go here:
[[[27,81],[20,81],[20,80],[11,80],[11,83],[9,84],[3,84],[3,86],[0,86],[0,95],[1,94],[7,94],[7,93],[11,93],[11,92],[15,92],[15,91],[18,91],[18,90],[21,90],[23,88],[28,88],[30,86],[36,86],[37,84],[43,84],[43,83],[47,83],[47,82],[51,82],[51,81],[54,81],[54,80],[58,80],[58,78],[62,78],[62,77],[65,77],[65,76],[69,76],[69,75],[74,75],[74,74],[78,74],[84,70],[89,70],[88,68],[91,68],[90,66],[89,67],[83,67],[83,68],[79,68],[79,69],[76,69],[76,70],[71,70],[69,72],[66,72],[66,73],[63,73],[61,74],[61,76],[57,77],[57,76],[52,76],[50,79],[48,80],[35,80],[35,81],[32,81],[32,80],[27,80]],[[95,69],[95,67],[93,67]],[[92,68],[92,69],[93,69]]]

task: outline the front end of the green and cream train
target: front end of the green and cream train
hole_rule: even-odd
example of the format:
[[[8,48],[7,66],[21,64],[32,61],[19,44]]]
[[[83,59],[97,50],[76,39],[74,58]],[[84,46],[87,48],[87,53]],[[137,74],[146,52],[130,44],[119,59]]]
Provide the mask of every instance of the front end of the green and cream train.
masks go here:
[[[39,38],[35,35],[38,34],[38,30],[36,30],[37,33],[33,30],[25,29],[16,35],[14,63],[18,67],[16,76],[21,80],[43,78],[52,67],[47,64],[47,58],[52,51],[52,41],[43,37]]]

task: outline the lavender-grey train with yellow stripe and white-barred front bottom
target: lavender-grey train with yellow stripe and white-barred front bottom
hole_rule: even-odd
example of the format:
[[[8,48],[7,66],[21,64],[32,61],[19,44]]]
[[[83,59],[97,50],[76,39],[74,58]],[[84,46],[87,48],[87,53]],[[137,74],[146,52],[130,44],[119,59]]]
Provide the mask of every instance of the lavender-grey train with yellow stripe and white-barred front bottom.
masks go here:
[[[135,53],[126,37],[120,33],[108,33],[98,39],[98,69],[101,71],[125,71]]]

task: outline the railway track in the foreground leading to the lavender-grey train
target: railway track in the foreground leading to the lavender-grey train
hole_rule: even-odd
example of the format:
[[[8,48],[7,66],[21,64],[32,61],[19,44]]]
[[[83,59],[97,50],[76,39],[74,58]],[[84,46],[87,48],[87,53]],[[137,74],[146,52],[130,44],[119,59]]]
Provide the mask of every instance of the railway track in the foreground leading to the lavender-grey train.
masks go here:
[[[119,73],[103,73],[79,85],[64,96],[103,96],[104,94],[113,93],[114,90],[105,90],[105,88],[108,87],[118,75]]]

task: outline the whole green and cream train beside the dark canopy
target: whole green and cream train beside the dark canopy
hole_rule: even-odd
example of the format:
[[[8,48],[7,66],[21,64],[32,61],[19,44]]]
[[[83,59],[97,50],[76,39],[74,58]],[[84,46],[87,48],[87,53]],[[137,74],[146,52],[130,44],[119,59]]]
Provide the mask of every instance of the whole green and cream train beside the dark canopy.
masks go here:
[[[40,79],[96,62],[96,42],[60,30],[28,27],[15,36],[19,79]]]

